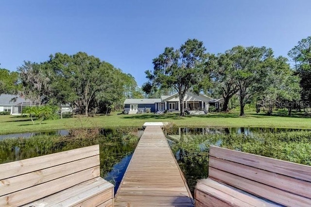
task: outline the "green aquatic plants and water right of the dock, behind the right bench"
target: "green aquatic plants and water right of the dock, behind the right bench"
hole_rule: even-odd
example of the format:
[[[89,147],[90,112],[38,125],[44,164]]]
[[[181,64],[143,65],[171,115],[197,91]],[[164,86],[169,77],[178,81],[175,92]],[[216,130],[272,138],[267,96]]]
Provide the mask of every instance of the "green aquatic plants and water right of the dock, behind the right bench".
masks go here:
[[[210,145],[265,157],[311,165],[311,131],[252,134],[184,134],[170,142],[173,153],[193,192],[196,180],[208,175]]]

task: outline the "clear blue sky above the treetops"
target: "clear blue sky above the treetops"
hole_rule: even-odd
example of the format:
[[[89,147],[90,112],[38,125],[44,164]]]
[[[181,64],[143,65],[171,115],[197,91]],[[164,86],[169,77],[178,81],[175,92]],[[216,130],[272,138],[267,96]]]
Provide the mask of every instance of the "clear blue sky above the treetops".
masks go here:
[[[0,67],[84,51],[140,86],[152,59],[188,38],[210,53],[254,45],[287,56],[311,36],[310,8],[311,0],[2,0]]]

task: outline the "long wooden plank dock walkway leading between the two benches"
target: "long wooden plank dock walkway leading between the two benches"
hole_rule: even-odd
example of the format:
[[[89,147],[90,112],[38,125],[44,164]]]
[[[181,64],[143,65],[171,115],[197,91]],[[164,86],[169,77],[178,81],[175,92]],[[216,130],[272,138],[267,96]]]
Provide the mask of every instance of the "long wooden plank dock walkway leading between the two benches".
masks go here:
[[[186,179],[160,126],[147,126],[115,196],[115,207],[192,207]]]

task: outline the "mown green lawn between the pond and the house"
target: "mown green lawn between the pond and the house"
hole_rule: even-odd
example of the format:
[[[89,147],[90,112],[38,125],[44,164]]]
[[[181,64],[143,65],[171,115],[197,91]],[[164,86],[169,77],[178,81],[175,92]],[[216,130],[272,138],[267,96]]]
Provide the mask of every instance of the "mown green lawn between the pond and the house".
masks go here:
[[[44,120],[41,125],[38,121],[33,125],[27,117],[1,115],[0,134],[79,127],[141,127],[145,122],[173,122],[178,127],[311,128],[311,118],[299,113],[294,113],[290,117],[285,114],[285,111],[279,111],[272,116],[267,116],[265,113],[246,112],[245,117],[239,117],[239,113],[233,111],[180,117],[177,113],[125,115],[114,112],[109,116]]]

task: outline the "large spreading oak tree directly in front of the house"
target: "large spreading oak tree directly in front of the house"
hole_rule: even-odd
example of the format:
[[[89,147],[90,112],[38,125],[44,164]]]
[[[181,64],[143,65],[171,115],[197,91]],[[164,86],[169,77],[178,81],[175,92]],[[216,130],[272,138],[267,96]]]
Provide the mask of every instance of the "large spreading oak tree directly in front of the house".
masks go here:
[[[176,90],[181,116],[185,115],[183,100],[186,92],[198,94],[203,88],[204,80],[207,80],[205,51],[202,41],[188,39],[178,49],[165,48],[164,52],[153,60],[154,70],[145,72],[149,79],[147,85],[158,88],[173,87]]]

